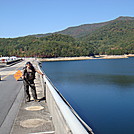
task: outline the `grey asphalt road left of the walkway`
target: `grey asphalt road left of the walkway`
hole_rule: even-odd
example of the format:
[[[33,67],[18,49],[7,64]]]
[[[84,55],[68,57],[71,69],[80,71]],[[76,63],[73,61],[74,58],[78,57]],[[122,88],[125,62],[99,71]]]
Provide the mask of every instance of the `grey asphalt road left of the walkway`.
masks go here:
[[[13,75],[18,70],[22,70],[24,64],[25,61],[22,61],[11,67],[0,68],[0,134],[8,134],[14,120],[15,115],[13,114],[16,114],[15,109],[18,106],[14,104],[20,90],[23,88],[23,81],[16,81]],[[13,106],[14,108],[11,110]]]

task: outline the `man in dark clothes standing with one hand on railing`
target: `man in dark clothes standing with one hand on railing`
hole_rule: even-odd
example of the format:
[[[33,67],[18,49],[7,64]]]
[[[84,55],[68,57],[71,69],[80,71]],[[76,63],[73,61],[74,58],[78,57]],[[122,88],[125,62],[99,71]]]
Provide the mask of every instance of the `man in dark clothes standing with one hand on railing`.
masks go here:
[[[35,73],[38,72],[43,76],[43,74],[36,70],[31,62],[27,62],[26,66],[24,67],[22,79],[24,82],[24,97],[26,102],[30,102],[30,93],[29,93],[29,86],[31,87],[32,96],[34,101],[38,102],[37,94],[36,94],[36,87],[34,83]]]

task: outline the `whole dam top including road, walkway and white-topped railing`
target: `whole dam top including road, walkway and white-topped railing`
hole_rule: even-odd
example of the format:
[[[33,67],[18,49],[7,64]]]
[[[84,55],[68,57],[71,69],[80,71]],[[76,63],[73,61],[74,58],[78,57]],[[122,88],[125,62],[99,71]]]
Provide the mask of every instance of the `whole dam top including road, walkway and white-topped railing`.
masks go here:
[[[39,102],[24,101],[23,81],[13,75],[27,61],[42,71],[34,58],[0,69],[0,134],[94,134],[46,75],[36,73]]]

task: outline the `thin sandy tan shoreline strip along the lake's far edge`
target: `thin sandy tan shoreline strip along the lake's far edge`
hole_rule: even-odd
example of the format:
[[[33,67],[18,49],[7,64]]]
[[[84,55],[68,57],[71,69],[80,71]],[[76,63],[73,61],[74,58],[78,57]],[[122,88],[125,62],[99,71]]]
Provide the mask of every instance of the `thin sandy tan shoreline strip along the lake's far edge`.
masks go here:
[[[95,57],[57,57],[57,58],[38,58],[39,61],[72,61],[72,60],[89,60],[89,59],[123,59],[134,57],[134,54],[129,55],[100,55]]]

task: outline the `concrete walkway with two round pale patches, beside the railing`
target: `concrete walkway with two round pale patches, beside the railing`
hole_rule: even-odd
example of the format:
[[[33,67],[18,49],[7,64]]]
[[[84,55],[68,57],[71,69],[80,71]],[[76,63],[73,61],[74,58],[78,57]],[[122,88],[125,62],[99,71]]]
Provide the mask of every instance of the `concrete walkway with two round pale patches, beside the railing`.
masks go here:
[[[32,61],[38,68],[37,62]],[[31,101],[21,103],[19,113],[15,119],[10,134],[54,134],[52,116],[48,110],[44,87],[42,87],[42,76],[36,73],[35,86],[39,102]],[[30,92],[31,94],[31,92]]]

